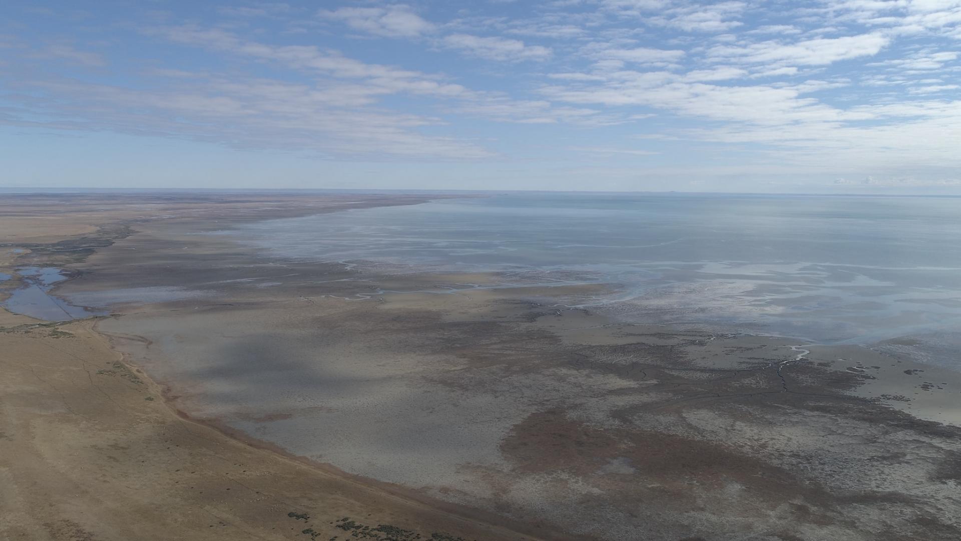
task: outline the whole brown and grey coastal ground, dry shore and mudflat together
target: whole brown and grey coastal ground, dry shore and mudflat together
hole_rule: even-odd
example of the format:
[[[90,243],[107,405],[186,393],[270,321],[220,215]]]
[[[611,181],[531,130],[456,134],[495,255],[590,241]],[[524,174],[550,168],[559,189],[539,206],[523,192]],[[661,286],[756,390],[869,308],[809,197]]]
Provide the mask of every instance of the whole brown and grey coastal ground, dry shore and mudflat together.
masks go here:
[[[897,348],[618,322],[558,308],[599,284],[219,233],[423,196],[57,197],[0,207],[7,293],[55,267],[50,295],[109,314],[3,316],[13,538],[961,537],[961,378]]]

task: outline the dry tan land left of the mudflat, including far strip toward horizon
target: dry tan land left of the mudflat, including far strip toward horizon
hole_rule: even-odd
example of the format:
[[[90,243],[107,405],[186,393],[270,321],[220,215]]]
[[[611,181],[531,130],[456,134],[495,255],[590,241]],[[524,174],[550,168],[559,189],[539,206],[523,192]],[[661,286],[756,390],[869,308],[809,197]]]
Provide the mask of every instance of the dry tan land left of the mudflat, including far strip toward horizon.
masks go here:
[[[17,218],[4,221],[0,272],[68,267],[145,219],[216,217],[224,208],[221,219],[236,220],[244,206],[119,198],[6,196],[0,213]],[[281,212],[332,204],[284,202]],[[72,214],[82,204],[110,210]],[[63,227],[37,228],[58,214]],[[44,244],[39,230],[49,235]],[[4,296],[19,287],[0,285]],[[94,329],[99,321],[44,322],[0,311],[0,538],[326,540],[361,531],[396,539],[531,539],[332,476],[189,419],[111,348]]]

